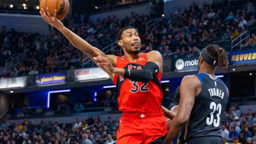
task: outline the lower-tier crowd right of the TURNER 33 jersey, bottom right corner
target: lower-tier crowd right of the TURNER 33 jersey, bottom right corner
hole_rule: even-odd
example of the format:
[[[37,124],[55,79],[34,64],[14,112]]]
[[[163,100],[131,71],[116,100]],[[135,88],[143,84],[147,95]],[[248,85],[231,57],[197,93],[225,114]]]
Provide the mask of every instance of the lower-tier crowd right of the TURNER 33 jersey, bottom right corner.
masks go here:
[[[221,129],[224,144],[230,139],[232,144],[255,144],[256,113],[251,114],[248,109],[246,114],[241,114],[239,106],[235,105],[224,113]]]

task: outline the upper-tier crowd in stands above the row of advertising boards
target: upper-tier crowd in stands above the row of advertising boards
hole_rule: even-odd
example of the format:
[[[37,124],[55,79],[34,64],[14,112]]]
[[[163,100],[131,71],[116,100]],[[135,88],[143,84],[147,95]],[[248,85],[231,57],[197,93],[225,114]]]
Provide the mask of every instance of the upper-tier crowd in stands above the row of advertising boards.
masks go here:
[[[192,56],[200,54],[200,50],[210,43],[218,44],[220,47],[230,50],[232,39],[246,30],[253,33],[256,30],[254,4],[254,1],[249,1],[248,3],[243,2],[235,5],[239,6],[239,9],[234,8],[234,6],[215,6],[216,8],[212,6],[212,9],[210,9],[210,6],[206,3],[199,8],[193,2],[189,9],[185,8],[183,12],[178,10],[170,17],[166,16],[167,18],[138,16],[131,12],[131,15],[124,19],[108,16],[104,19],[98,18],[96,23],[82,22],[69,28],[91,45],[102,50],[105,46],[116,41],[119,30],[125,26],[134,26],[140,34],[142,52],[147,53],[157,50],[163,55],[163,58]],[[156,26],[145,31],[146,22],[151,19],[155,20]],[[3,34],[2,41],[3,38],[9,38],[7,32]],[[19,44],[18,41],[16,43]],[[246,40],[242,47],[254,47],[255,44],[256,37],[251,34],[250,40]],[[22,44],[19,44],[19,46],[22,46]],[[8,45],[4,51],[2,50],[2,54],[8,56],[12,54],[8,51]],[[122,51],[118,47],[109,54],[121,56]],[[86,55],[74,48],[60,32],[51,29],[47,38],[30,42],[26,60],[10,68],[0,77],[80,68],[84,58],[86,58]]]

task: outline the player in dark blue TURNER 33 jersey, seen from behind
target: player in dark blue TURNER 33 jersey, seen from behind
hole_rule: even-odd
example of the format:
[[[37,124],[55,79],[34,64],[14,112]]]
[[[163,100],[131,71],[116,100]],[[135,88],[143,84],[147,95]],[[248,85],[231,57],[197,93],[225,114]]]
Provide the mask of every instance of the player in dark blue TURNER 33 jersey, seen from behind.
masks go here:
[[[198,59],[198,74],[183,78],[176,116],[170,123],[164,144],[170,144],[185,127],[186,144],[221,144],[221,125],[228,101],[225,84],[215,76],[228,67],[227,52],[217,45],[206,46]]]

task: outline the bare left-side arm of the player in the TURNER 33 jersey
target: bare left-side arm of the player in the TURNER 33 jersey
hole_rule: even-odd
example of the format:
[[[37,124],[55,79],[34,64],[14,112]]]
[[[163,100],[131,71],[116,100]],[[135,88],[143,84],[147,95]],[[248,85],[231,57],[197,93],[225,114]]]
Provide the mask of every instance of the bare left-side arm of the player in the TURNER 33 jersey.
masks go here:
[[[201,83],[195,75],[186,76],[182,79],[179,108],[176,116],[170,122],[170,128],[164,140],[164,144],[169,144],[186,125],[194,106],[196,90],[200,86]]]

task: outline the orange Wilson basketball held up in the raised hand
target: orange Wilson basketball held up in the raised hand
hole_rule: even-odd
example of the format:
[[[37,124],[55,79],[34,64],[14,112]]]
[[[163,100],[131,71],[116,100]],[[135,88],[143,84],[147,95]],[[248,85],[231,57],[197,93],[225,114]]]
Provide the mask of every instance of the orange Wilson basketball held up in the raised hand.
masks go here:
[[[57,18],[59,20],[64,19],[69,13],[69,1],[68,0],[41,0],[40,10],[44,9],[46,13],[46,7],[49,8],[51,16],[54,16],[54,10],[57,9]]]

